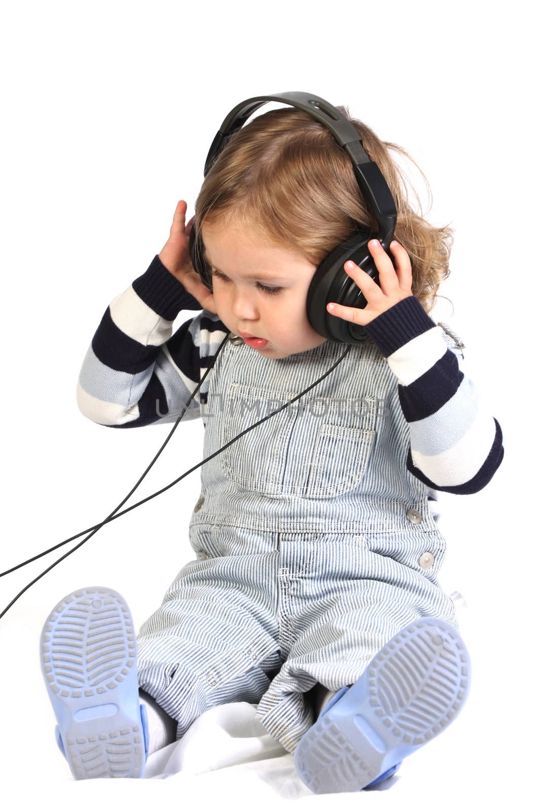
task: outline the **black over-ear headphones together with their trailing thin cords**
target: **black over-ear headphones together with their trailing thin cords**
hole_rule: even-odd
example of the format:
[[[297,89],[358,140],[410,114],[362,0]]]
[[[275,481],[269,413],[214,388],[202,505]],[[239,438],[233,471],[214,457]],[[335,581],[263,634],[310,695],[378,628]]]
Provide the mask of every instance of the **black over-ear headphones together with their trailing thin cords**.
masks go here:
[[[19,563],[16,566],[13,566],[11,569],[7,569],[5,572],[0,573],[0,577],[4,577],[6,574],[15,571],[15,569],[20,569],[21,566],[32,563],[33,560],[37,560],[38,558],[47,555],[50,551],[54,551],[54,549],[58,549],[58,547],[62,547],[65,543],[69,543],[70,541],[75,540],[75,538],[79,538],[80,535],[92,530],[92,532],[90,532],[86,538],[80,541],[76,547],[73,547],[73,549],[71,549],[65,555],[62,555],[62,557],[58,558],[58,560],[55,560],[54,564],[51,564],[47,569],[41,572],[41,574],[30,581],[27,586],[24,586],[24,589],[20,590],[19,594],[17,594],[15,598],[11,600],[11,603],[9,603],[3,609],[3,611],[0,612],[0,619],[2,616],[4,616],[4,614],[6,614],[6,611],[9,611],[16,600],[18,600],[19,597],[30,588],[30,586],[32,586],[36,581],[40,580],[41,577],[49,572],[50,569],[53,569],[54,566],[58,565],[62,560],[64,560],[64,558],[72,555],[73,552],[86,543],[88,539],[92,537],[92,535],[96,534],[97,531],[104,526],[104,524],[109,523],[109,521],[114,521],[115,518],[119,518],[121,515],[124,515],[124,513],[129,513],[132,509],[139,507],[140,504],[144,504],[145,501],[159,496],[165,490],[169,490],[170,487],[173,487],[174,484],[178,483],[182,478],[187,476],[187,474],[191,473],[193,470],[196,470],[201,465],[204,465],[206,461],[217,456],[218,453],[221,453],[221,451],[225,450],[225,448],[228,448],[230,444],[236,442],[236,440],[238,440],[248,431],[253,431],[253,429],[260,425],[260,423],[264,423],[265,420],[270,419],[275,414],[279,414],[280,411],[287,408],[291,403],[297,401],[300,397],[303,397],[303,394],[306,394],[311,390],[311,388],[314,388],[317,384],[319,384],[321,380],[324,380],[324,378],[327,377],[327,375],[329,375],[335,367],[337,367],[338,363],[341,363],[346,355],[350,353],[353,344],[360,344],[368,337],[367,331],[364,327],[358,324],[351,324],[350,321],[345,321],[341,318],[337,318],[336,315],[331,315],[328,313],[327,303],[334,301],[339,304],[344,304],[346,307],[359,307],[359,309],[363,309],[363,307],[367,306],[366,298],[364,298],[363,293],[359,290],[359,287],[355,285],[354,281],[347,275],[346,271],[344,270],[344,264],[347,260],[353,260],[355,264],[359,265],[359,268],[363,268],[363,270],[367,272],[374,281],[376,281],[376,284],[379,284],[379,274],[377,272],[376,265],[371,258],[370,251],[368,250],[367,242],[371,238],[379,239],[381,245],[384,247],[384,251],[387,253],[387,255],[389,255],[389,258],[393,262],[393,267],[395,267],[393,256],[389,253],[389,245],[393,239],[394,228],[397,222],[397,209],[395,208],[393,196],[389,191],[389,187],[387,186],[380,169],[378,169],[373,161],[368,160],[367,153],[364,151],[362,141],[359,138],[359,133],[354,129],[351,122],[349,122],[347,118],[344,118],[344,116],[336,109],[336,107],[333,107],[333,105],[329,104],[328,101],[325,101],[319,96],[314,96],[312,94],[303,92],[277,93],[275,96],[255,96],[251,99],[247,99],[246,101],[241,101],[241,103],[234,107],[230,114],[225,117],[220,129],[217,131],[213,144],[208,152],[207,160],[205,161],[204,174],[205,176],[207,175],[214,159],[217,157],[219,152],[221,152],[221,149],[224,148],[228,139],[230,139],[230,137],[234,135],[234,133],[240,127],[243,127],[243,124],[246,123],[247,118],[249,118],[251,114],[266,101],[283,101],[284,103],[290,104],[298,109],[303,109],[316,118],[317,121],[324,124],[325,127],[327,127],[328,130],[333,133],[334,137],[338,141],[338,144],[346,149],[346,152],[353,161],[355,177],[359,183],[359,191],[361,191],[361,194],[365,196],[365,199],[370,205],[370,208],[380,226],[380,230],[377,234],[371,234],[366,229],[363,229],[359,224],[356,225],[354,231],[350,234],[346,241],[341,242],[340,245],[334,248],[334,250],[325,257],[319,268],[317,268],[311,281],[310,288],[308,289],[307,316],[311,326],[316,330],[316,333],[319,333],[326,338],[330,338],[332,341],[339,341],[341,343],[349,344],[348,347],[341,354],[340,358],[333,363],[333,366],[331,366],[328,371],[324,372],[323,375],[315,380],[314,383],[307,386],[307,388],[305,388],[300,394],[296,395],[296,397],[292,397],[292,399],[282,405],[281,408],[277,409],[276,411],[272,411],[271,414],[267,414],[253,425],[245,428],[240,434],[234,436],[232,440],[227,442],[225,445],[222,445],[221,448],[218,448],[217,451],[206,457],[203,461],[200,461],[199,464],[191,467],[190,470],[187,470],[182,474],[182,476],[179,476],[170,484],[162,487],[161,490],[152,493],[150,496],[138,501],[136,504],[132,504],[131,507],[122,510],[122,513],[118,513],[118,510],[122,507],[122,504],[125,504],[125,502],[130,498],[131,494],[135,492],[137,487],[139,487],[146,474],[148,474],[148,470],[151,469],[152,465],[157,460],[157,457],[160,456],[161,451],[165,448],[165,445],[169,442],[171,436],[173,436],[173,433],[176,430],[178,423],[182,419],[182,416],[186,412],[188,405],[190,405],[193,397],[195,397],[195,394],[199,391],[201,384],[203,384],[208,373],[213,368],[214,363],[216,363],[218,355],[228,340],[228,333],[223,341],[221,341],[217,352],[213,356],[212,363],[208,365],[204,375],[201,377],[200,382],[196,385],[194,391],[191,393],[187,404],[184,405],[184,408],[178,415],[177,421],[171,428],[165,442],[161,445],[160,450],[152,459],[152,462],[148,466],[147,470],[144,471],[144,474],[140,476],[139,481],[135,483],[135,486],[131,488],[131,491],[127,494],[127,496],[125,496],[120,504],[118,504],[118,507],[114,508],[113,512],[109,513],[109,516],[107,516],[103,521],[100,521],[99,524],[96,524],[93,527],[88,527],[88,529],[83,530],[76,535],[72,535],[71,538],[67,538],[65,541],[57,543],[54,547],[45,549],[32,558],[24,560],[23,563]],[[190,252],[192,267],[197,273],[199,273],[201,280],[203,281],[204,285],[208,287],[208,290],[212,290],[211,268],[209,268],[206,260],[204,259],[202,241],[197,234],[195,234],[195,228],[193,225],[190,231]]]

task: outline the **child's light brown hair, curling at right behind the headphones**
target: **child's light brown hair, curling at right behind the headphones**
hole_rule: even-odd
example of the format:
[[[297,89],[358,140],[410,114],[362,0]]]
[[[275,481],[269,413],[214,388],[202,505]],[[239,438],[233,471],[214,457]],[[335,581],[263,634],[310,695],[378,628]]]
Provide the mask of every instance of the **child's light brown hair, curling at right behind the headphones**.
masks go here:
[[[406,176],[391,151],[419,169],[410,154],[380,140],[346,106],[337,109],[359,132],[367,156],[389,186],[397,208],[394,237],[410,256],[412,293],[428,313],[449,276],[454,229],[427,222],[415,191],[420,213],[411,208]],[[432,193],[430,198],[432,208]],[[231,136],[213,162],[195,201],[195,230],[202,234],[203,225],[217,222],[247,228],[264,244],[298,252],[316,266],[357,223],[378,230],[347,152],[323,124],[293,107],[254,118]]]

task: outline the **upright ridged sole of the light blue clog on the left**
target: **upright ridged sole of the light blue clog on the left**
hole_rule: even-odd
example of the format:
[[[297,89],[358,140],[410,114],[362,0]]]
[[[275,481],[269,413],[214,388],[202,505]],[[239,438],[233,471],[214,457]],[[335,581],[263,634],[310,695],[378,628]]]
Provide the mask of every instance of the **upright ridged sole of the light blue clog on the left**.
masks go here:
[[[93,586],[68,594],[45,621],[40,653],[74,778],[142,777],[137,647],[122,595]]]

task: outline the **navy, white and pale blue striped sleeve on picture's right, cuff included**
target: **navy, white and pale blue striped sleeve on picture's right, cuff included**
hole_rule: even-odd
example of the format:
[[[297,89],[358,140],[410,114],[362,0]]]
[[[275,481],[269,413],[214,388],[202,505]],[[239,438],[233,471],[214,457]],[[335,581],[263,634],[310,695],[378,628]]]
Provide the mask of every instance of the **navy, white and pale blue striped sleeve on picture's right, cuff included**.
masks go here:
[[[410,427],[407,470],[429,491],[482,490],[504,457],[503,433],[466,373],[465,345],[413,295],[366,329],[397,375]]]

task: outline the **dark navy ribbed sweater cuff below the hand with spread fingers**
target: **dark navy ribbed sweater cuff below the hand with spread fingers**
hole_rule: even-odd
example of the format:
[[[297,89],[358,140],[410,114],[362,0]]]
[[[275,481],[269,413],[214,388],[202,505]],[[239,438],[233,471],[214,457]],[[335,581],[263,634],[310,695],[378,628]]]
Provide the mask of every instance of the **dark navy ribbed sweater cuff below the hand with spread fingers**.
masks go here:
[[[389,310],[376,315],[369,324],[364,325],[368,335],[386,358],[432,327],[436,327],[436,323],[423,310],[423,305],[414,295],[402,298],[393,307],[389,307]]]

